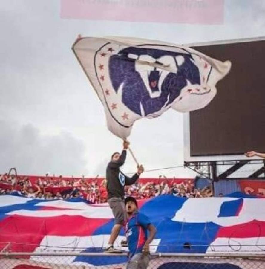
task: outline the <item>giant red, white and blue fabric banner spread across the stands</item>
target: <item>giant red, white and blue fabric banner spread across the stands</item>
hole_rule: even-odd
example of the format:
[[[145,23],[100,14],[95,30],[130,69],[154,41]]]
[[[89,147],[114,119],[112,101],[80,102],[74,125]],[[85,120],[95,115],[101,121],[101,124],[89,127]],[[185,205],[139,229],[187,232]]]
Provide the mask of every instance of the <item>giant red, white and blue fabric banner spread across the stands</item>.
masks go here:
[[[139,201],[140,212],[157,227],[151,251],[158,253],[265,254],[265,199],[218,197],[187,199],[161,195]],[[107,204],[77,200],[37,200],[0,196],[0,249],[11,252],[102,252],[114,224]],[[124,240],[124,232],[117,245]],[[124,248],[127,250],[127,248]],[[30,256],[50,262],[49,256]],[[61,264],[110,265],[124,256],[60,257]]]

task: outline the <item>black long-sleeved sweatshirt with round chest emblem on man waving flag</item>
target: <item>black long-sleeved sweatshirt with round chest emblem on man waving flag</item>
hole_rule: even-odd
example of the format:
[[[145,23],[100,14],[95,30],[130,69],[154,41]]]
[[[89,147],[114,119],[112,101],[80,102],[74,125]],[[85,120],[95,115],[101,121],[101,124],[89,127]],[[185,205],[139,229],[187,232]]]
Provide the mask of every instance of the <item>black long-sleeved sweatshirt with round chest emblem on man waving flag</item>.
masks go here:
[[[120,171],[120,166],[125,162],[126,153],[126,150],[123,150],[118,161],[108,163],[106,175],[108,199],[113,197],[124,199],[124,186],[134,184],[139,178],[137,173],[129,178]]]

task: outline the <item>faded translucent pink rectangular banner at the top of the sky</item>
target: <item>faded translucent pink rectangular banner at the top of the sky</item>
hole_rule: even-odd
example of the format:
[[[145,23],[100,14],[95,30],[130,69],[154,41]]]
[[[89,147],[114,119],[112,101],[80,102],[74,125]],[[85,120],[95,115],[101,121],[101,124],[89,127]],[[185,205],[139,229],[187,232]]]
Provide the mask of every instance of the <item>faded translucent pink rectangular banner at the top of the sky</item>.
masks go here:
[[[61,18],[222,24],[224,0],[61,0]]]

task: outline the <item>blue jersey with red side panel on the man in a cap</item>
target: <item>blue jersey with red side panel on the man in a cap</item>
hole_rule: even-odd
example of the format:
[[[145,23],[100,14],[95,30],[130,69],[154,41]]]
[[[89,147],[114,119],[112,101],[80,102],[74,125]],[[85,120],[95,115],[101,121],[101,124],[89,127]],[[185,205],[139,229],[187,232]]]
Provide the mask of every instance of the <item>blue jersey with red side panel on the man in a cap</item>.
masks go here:
[[[147,226],[150,219],[139,212],[134,213],[125,223],[125,235],[128,242],[130,256],[141,253],[148,237]]]

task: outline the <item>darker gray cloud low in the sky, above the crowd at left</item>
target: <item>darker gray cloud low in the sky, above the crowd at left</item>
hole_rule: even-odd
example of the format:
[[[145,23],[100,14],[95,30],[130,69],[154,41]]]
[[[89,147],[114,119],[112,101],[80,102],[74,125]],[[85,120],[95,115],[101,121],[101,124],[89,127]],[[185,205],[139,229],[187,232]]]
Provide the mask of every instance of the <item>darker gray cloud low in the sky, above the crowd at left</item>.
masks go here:
[[[16,167],[19,174],[87,174],[85,144],[68,132],[44,135],[31,124],[0,121],[0,172]]]

